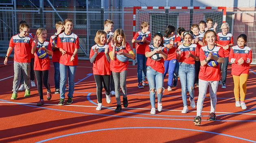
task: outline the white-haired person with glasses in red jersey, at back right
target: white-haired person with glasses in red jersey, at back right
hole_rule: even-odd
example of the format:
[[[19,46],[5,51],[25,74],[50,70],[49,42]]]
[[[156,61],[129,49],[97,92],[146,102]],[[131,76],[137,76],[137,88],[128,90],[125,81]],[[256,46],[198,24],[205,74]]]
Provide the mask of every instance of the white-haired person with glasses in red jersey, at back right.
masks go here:
[[[231,33],[228,33],[229,25],[228,23],[222,23],[221,32],[217,34],[218,41],[216,42],[218,46],[221,46],[224,49],[224,63],[220,64],[220,70],[222,69],[222,84],[221,88],[226,88],[226,78],[227,78],[227,69],[228,69],[228,57],[230,52],[230,47],[233,46],[233,36]]]

